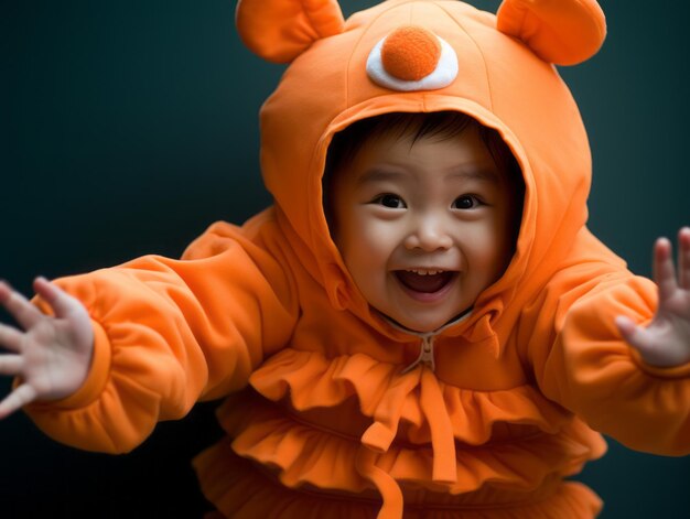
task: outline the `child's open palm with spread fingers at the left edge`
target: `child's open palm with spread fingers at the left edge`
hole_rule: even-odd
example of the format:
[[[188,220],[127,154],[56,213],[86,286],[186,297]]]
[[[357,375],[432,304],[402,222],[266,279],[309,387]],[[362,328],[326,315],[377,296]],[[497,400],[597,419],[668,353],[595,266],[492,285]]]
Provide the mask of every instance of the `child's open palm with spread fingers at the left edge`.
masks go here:
[[[53,309],[44,315],[19,292],[0,282],[0,304],[23,331],[0,324],[0,375],[19,386],[0,402],[0,419],[35,400],[57,400],[75,392],[88,374],[94,331],[86,309],[43,278],[33,288]]]

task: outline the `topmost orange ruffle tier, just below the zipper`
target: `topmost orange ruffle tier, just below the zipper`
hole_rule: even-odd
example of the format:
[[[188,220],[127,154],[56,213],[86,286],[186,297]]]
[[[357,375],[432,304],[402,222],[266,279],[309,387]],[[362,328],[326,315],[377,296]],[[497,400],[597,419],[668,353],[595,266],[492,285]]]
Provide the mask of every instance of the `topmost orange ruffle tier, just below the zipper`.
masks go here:
[[[288,348],[255,371],[250,383],[269,400],[289,397],[298,411],[334,407],[356,397],[360,412],[376,422],[378,431],[371,431],[370,436],[379,436],[378,447],[382,451],[398,433],[400,422],[408,425],[406,434],[411,442],[431,442],[429,404],[433,415],[449,424],[454,439],[468,445],[485,444],[499,422],[530,425],[554,434],[571,420],[568,411],[529,385],[476,391],[445,385],[433,377],[438,388],[427,391],[432,393],[429,402],[430,398],[422,398],[422,393],[424,386],[432,383],[425,383],[423,369],[405,375],[401,370],[401,366],[364,354],[326,358],[317,352]]]

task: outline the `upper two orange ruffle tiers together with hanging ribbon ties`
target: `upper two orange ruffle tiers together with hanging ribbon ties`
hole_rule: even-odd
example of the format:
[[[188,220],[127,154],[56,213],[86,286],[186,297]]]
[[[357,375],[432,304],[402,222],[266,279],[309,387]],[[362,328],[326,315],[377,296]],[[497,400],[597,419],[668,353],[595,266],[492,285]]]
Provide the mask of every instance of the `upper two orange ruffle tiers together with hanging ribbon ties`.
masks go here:
[[[427,367],[402,374],[364,354],[285,349],[250,383],[255,391],[218,410],[233,451],[290,489],[382,499],[379,517],[400,517],[417,498],[427,506],[429,496],[452,496],[454,506],[513,507],[516,493],[536,501],[605,451],[530,386],[461,389]],[[498,494],[487,498],[487,488]]]

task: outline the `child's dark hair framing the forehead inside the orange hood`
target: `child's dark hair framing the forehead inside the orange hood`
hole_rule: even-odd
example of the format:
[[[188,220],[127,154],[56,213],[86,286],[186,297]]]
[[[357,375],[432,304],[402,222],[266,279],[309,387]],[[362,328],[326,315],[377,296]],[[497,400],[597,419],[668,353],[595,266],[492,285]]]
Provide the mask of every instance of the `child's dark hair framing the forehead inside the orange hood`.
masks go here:
[[[515,194],[516,218],[514,237],[517,239],[520,228],[520,215],[522,214],[522,202],[525,198],[525,182],[520,166],[513,155],[513,152],[496,130],[481,125],[472,117],[460,111],[384,113],[353,122],[343,131],[335,133],[328,147],[322,181],[323,207],[331,231],[333,231],[333,218],[330,188],[333,183],[333,177],[347,167],[365,142],[380,136],[392,136],[396,138],[411,136],[412,143],[422,138],[435,137],[439,140],[445,140],[459,137],[468,128],[476,128],[479,138],[484,142],[484,145],[486,145],[494,162],[500,171],[505,172],[508,185]]]

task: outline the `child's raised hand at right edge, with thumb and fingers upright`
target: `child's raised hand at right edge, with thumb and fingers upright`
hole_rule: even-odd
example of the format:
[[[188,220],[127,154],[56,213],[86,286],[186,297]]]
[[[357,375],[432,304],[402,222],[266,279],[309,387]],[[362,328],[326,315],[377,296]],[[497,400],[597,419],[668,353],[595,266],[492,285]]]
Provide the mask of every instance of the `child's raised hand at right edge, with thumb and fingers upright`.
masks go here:
[[[672,367],[690,361],[690,227],[678,233],[678,278],[671,244],[659,238],[654,248],[654,280],[659,307],[646,328],[616,317],[623,338],[651,366]]]

